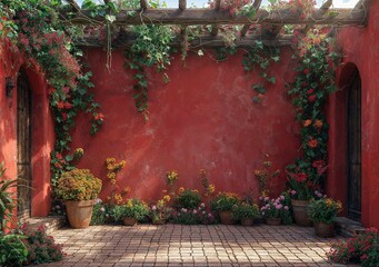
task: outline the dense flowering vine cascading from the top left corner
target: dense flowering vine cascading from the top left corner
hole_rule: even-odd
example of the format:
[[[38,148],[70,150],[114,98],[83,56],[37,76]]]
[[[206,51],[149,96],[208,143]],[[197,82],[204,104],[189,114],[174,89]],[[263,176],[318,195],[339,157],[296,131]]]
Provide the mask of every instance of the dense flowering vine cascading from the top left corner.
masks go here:
[[[23,56],[27,66],[46,77],[49,85],[49,102],[54,118],[56,145],[51,152],[52,184],[62,170],[71,167],[73,155],[69,154],[71,129],[80,111],[91,116],[91,134],[102,125],[103,115],[89,89],[91,72],[83,72],[81,51],[73,47],[70,27],[58,19],[54,6],[39,0],[3,0],[0,2],[2,43]],[[62,154],[66,155],[63,158]],[[59,161],[59,164],[57,164]]]

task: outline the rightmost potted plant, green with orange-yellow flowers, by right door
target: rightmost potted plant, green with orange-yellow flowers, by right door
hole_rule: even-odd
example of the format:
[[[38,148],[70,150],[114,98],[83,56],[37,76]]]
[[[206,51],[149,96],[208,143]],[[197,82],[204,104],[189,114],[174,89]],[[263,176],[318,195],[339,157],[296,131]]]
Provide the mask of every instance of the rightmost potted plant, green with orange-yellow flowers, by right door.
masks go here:
[[[308,207],[308,216],[313,221],[315,233],[319,237],[335,236],[335,225],[341,202],[331,198],[312,200]]]

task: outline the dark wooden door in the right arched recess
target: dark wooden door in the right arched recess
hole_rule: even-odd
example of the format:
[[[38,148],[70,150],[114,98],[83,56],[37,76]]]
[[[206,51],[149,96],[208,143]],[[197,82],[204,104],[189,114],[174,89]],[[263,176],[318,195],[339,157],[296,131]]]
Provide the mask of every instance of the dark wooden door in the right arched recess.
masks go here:
[[[348,217],[361,217],[361,81],[358,70],[348,89]]]

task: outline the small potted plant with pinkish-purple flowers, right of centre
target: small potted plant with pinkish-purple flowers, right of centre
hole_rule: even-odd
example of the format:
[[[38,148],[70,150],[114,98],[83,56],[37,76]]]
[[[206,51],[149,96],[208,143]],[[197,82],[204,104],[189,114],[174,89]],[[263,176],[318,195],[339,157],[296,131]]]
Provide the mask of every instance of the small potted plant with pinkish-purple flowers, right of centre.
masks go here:
[[[289,207],[283,205],[285,196],[279,196],[276,199],[270,199],[269,197],[263,197],[262,206],[260,208],[262,217],[266,219],[268,225],[280,225],[281,217],[285,210]]]

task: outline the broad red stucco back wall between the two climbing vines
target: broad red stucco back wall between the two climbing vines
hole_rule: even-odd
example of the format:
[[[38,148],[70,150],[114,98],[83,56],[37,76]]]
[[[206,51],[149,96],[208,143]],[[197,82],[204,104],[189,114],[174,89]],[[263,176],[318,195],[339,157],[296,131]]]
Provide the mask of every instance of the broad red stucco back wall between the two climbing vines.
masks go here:
[[[150,120],[144,123],[132,98],[131,73],[124,69],[120,51],[112,53],[112,69],[106,69],[106,52],[87,51],[93,72],[96,100],[106,115],[103,128],[89,137],[88,128],[73,132],[73,147],[86,151],[80,164],[104,180],[102,198],[109,195],[104,160],[127,160],[120,172],[119,188],[131,187],[133,195],[147,200],[161,195],[164,174],[177,170],[180,186],[201,188],[198,178],[206,169],[217,190],[240,194],[253,189],[252,171],[261,168],[269,154],[275,168],[281,168],[298,156],[298,123],[287,98],[285,82],[291,77],[290,50],[273,68],[277,85],[270,88],[262,105],[252,102],[251,76],[241,66],[242,53],[216,62],[208,53],[190,55],[186,67],[176,57],[168,69],[171,82],[149,72]],[[87,125],[84,116],[78,125]],[[285,176],[273,180],[273,192],[285,189]],[[257,195],[256,195],[257,196]]]

